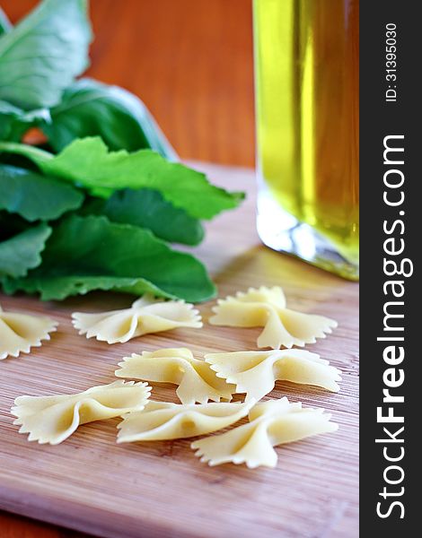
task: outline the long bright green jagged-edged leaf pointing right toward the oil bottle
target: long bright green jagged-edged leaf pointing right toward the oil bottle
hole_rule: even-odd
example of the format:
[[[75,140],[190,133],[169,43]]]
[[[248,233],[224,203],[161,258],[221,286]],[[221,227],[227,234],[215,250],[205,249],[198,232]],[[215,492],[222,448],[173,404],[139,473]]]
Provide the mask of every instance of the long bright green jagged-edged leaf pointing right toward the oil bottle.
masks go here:
[[[123,188],[152,188],[167,202],[196,219],[211,219],[237,207],[243,193],[230,193],[211,185],[205,174],[166,161],[152,150],[109,152],[100,137],[70,143],[58,155],[18,143],[0,143],[0,152],[24,155],[48,175],[89,188],[93,195],[109,197]]]

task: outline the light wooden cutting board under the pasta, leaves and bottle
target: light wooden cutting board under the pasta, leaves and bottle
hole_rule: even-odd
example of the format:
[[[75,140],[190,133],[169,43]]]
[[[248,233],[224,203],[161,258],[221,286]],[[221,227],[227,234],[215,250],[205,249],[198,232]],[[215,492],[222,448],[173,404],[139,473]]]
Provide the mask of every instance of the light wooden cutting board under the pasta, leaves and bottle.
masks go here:
[[[57,447],[28,442],[13,426],[18,395],[83,391],[115,379],[124,355],[188,346],[201,357],[212,351],[256,349],[259,329],[207,324],[214,302],[200,305],[204,328],[147,335],[108,345],[79,336],[75,310],[128,306],[131,298],[92,293],[64,302],[5,297],[5,309],[40,312],[60,323],[50,342],[30,355],[0,361],[0,508],[112,537],[357,536],[357,303],[358,286],[261,246],[255,231],[251,170],[210,167],[216,183],[249,192],[242,208],[212,222],[197,249],[220,296],[249,286],[282,285],[291,307],[338,320],[338,329],[308,346],[342,370],[338,394],[277,382],[272,397],[324,407],[336,433],[277,447],[276,469],[201,464],[190,439],[117,445],[116,420],[79,428]],[[174,386],[154,385],[154,399],[177,402]]]

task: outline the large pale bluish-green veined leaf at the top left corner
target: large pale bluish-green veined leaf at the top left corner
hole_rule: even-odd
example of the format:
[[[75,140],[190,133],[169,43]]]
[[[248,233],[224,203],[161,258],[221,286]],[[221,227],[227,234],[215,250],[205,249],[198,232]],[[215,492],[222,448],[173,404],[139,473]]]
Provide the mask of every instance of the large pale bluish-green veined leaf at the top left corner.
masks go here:
[[[54,107],[88,65],[85,0],[44,0],[0,39],[0,100]]]

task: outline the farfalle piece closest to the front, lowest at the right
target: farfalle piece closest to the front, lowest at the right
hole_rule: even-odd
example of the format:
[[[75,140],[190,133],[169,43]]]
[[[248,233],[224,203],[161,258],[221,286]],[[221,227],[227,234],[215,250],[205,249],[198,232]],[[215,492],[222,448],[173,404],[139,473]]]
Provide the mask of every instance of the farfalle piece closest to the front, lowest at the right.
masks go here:
[[[302,404],[290,404],[286,397],[268,400],[251,409],[248,424],[200,439],[190,446],[197,451],[201,462],[209,465],[233,462],[251,469],[259,465],[275,467],[277,453],[273,447],[338,430],[338,425],[330,422],[331,415],[323,411],[303,409]]]

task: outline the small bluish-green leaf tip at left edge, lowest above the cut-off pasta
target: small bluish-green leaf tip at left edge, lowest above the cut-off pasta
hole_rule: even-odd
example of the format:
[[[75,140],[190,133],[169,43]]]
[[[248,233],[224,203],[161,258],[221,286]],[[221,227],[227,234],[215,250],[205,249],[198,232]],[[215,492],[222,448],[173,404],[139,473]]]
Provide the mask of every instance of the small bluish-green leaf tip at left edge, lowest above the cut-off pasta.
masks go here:
[[[51,234],[45,222],[0,243],[0,278],[22,277],[41,263],[41,252]]]

